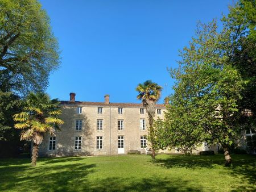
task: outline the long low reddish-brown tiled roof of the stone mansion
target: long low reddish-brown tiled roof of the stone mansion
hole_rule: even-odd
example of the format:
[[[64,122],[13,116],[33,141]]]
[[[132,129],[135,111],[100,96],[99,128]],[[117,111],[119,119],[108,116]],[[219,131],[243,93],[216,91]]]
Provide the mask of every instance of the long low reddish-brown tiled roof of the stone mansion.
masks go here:
[[[114,106],[114,107],[135,107],[142,108],[142,103],[105,103],[105,102],[88,102],[88,101],[60,101],[61,105],[85,105],[85,106],[98,106],[98,107],[106,107],[106,106]],[[166,108],[163,104],[156,104],[156,108]]]

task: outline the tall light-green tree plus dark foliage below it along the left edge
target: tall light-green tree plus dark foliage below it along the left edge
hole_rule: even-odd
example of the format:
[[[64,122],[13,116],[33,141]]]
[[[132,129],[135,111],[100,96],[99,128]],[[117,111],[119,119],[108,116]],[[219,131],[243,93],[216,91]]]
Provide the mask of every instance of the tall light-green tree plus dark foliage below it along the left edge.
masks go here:
[[[49,18],[36,0],[0,1],[0,156],[19,148],[13,115],[30,91],[44,91],[59,66],[59,47]],[[16,151],[16,149],[14,151]]]

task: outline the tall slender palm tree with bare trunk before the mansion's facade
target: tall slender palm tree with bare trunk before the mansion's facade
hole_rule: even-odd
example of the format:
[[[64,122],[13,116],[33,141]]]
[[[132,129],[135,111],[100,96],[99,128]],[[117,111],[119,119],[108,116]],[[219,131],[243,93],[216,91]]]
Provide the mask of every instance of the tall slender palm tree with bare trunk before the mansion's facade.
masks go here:
[[[139,84],[136,87],[138,91],[137,99],[142,100],[143,107],[146,108],[148,114],[148,122],[149,122],[149,139],[151,141],[152,147],[152,157],[155,158],[155,148],[154,148],[154,129],[153,122],[155,116],[155,105],[159,100],[162,87],[158,84],[152,82],[151,80],[145,81],[143,84]]]

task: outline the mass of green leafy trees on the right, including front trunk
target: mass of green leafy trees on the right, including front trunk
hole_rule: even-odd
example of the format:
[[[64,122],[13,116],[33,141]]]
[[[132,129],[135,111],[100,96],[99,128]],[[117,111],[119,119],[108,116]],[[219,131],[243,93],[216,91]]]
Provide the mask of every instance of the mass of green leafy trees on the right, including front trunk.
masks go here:
[[[179,68],[170,69],[175,93],[164,120],[155,122],[162,148],[187,153],[203,141],[218,143],[231,163],[230,145],[255,120],[255,13],[255,1],[240,1],[222,18],[222,30],[216,20],[199,23]]]

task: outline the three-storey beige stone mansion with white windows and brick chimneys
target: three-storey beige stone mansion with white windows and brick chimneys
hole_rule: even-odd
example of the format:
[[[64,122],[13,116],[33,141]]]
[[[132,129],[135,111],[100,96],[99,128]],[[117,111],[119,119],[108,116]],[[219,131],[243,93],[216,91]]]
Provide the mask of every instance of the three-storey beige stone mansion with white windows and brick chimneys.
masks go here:
[[[118,155],[147,152],[147,113],[142,104],[61,101],[64,124],[56,136],[46,135],[40,156]],[[155,118],[163,118],[164,105],[156,105]]]

